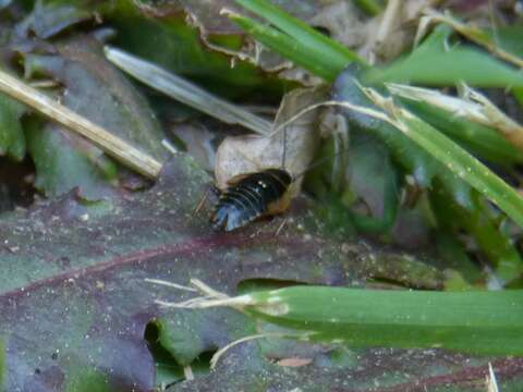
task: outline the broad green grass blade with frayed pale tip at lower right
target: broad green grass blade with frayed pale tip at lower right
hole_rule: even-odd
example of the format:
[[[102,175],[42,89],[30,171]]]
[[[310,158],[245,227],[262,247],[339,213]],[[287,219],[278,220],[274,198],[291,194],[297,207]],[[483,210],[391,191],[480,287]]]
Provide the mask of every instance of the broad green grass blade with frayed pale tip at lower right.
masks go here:
[[[422,292],[293,286],[250,295],[248,314],[351,346],[523,355],[523,291]]]

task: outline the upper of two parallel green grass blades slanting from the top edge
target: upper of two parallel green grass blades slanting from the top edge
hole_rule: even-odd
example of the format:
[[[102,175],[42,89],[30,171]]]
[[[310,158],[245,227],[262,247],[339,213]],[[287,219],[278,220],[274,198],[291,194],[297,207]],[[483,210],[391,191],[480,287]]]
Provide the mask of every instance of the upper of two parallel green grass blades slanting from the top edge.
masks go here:
[[[303,21],[289,15],[267,0],[234,0],[238,4],[264,17],[309,50],[321,53],[340,71],[350,62],[364,62],[356,53],[340,42],[315,30]]]

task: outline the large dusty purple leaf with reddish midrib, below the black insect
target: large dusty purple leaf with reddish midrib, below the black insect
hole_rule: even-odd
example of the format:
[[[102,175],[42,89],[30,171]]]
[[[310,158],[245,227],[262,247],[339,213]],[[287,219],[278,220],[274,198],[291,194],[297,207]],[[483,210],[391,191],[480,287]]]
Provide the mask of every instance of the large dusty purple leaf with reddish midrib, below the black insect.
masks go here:
[[[0,236],[9,247],[0,248],[0,314],[9,390],[42,385],[39,375],[53,382],[74,379],[76,385],[106,380],[112,390],[151,389],[155,368],[144,331],[157,318],[169,319],[173,344],[182,335],[194,339],[172,348],[180,363],[194,358],[194,347],[223,346],[245,333],[246,321],[220,321],[227,313],[183,321],[182,310],[158,308],[157,297],[186,295],[145,278],[180,284],[199,278],[229,292],[253,278],[349,284],[348,277],[362,281],[381,257],[342,257],[339,243],[314,232],[304,238],[295,216],[277,237],[281,221],[216,234],[202,218],[187,216],[204,193],[204,179],[181,156],[150,192],[90,207],[69,194],[3,221]],[[172,330],[183,322],[185,334]]]

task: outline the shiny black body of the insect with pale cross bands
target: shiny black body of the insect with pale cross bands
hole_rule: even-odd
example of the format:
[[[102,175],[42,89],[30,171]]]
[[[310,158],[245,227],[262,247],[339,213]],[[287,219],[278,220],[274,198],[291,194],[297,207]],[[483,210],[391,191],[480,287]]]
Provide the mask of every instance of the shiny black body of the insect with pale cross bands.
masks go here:
[[[292,176],[283,169],[233,177],[220,195],[210,221],[215,229],[231,231],[253,220],[283,212],[289,207]]]

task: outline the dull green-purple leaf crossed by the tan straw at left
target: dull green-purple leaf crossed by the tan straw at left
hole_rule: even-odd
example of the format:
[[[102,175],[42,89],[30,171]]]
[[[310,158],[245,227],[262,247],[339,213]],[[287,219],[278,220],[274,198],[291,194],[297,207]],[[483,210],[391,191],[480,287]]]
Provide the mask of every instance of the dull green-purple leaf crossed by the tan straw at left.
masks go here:
[[[58,53],[24,53],[27,76],[63,84],[62,103],[157,159],[165,159],[162,132],[145,98],[105,58],[93,38],[65,41]],[[31,123],[29,152],[36,186],[49,196],[80,187],[88,199],[106,196],[119,170],[99,148],[49,122]]]

